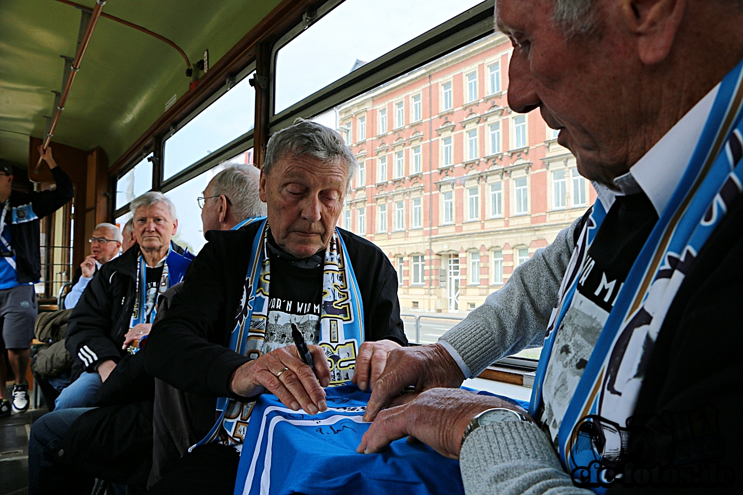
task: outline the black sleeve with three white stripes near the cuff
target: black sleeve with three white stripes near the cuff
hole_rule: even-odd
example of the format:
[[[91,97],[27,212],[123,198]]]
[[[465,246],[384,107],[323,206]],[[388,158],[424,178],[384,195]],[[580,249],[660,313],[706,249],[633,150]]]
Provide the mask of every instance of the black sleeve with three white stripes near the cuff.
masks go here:
[[[111,326],[114,324],[111,274],[106,271],[102,275],[106,276],[94,277],[82,292],[68,320],[65,339],[67,350],[82,361],[83,369],[88,372],[94,371],[98,363],[106,359],[117,362],[121,359],[120,349],[111,341]]]

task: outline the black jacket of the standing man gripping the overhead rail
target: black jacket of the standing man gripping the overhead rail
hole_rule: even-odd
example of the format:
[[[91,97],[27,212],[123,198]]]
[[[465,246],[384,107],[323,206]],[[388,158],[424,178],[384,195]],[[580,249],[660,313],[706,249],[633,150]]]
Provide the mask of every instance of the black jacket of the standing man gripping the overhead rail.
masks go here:
[[[10,230],[10,246],[16,251],[19,283],[36,282],[42,277],[39,220],[62,208],[75,194],[72,180],[62,168],[52,168],[51,174],[56,182],[53,191],[13,191],[10,194],[15,219]],[[10,224],[10,218],[5,223]]]

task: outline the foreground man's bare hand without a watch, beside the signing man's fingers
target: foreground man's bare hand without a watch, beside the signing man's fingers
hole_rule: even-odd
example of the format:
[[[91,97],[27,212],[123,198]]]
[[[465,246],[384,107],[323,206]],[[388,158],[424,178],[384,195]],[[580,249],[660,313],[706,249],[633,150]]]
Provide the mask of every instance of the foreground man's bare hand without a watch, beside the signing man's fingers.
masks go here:
[[[374,421],[389,399],[409,385],[415,385],[415,391],[422,392],[435,387],[458,388],[462,381],[464,373],[441,344],[400,347],[389,353],[387,366],[374,383],[364,421]]]

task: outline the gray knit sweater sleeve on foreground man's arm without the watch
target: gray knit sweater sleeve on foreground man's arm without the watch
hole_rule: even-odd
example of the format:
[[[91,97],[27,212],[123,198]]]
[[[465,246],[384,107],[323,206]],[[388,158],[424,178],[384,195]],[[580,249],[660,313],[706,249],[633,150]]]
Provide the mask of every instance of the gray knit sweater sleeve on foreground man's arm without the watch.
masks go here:
[[[478,376],[507,355],[542,345],[562,276],[573,255],[573,232],[578,223],[580,218],[562,229],[549,246],[537,249],[513,270],[502,289],[487,296],[485,304],[441,336],[439,342],[466,378]]]

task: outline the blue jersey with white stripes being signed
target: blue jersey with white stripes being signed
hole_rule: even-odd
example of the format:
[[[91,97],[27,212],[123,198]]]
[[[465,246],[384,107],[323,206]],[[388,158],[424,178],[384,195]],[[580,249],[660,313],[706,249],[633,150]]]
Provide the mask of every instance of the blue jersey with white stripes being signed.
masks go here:
[[[464,494],[459,462],[427,445],[400,439],[381,453],[357,453],[371,424],[362,421],[370,394],[355,385],[325,393],[328,410],[316,415],[267,393],[256,401],[235,494]]]

